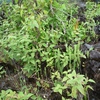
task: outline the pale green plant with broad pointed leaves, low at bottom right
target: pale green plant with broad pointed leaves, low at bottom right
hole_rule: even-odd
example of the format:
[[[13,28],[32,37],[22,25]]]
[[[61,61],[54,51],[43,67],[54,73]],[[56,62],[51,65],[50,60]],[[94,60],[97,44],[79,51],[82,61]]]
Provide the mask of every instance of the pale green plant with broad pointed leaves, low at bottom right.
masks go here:
[[[54,78],[57,78],[57,80],[54,80]],[[52,79],[54,80],[53,91],[63,95],[63,90],[66,90],[67,96],[71,98],[77,98],[79,93],[86,97],[88,88],[92,89],[88,83],[95,83],[92,79],[77,74],[75,70],[64,71],[62,76],[59,72],[55,72],[52,75]]]

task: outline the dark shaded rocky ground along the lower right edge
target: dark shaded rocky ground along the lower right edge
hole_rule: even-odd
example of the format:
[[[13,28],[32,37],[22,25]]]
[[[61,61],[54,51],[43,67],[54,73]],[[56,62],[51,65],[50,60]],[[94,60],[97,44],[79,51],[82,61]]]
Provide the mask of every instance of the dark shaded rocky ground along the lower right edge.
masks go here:
[[[100,42],[96,44],[84,44],[84,53],[88,50],[88,58],[82,64],[83,74],[95,80],[96,84],[91,84],[94,91],[89,91],[89,100],[100,100]]]

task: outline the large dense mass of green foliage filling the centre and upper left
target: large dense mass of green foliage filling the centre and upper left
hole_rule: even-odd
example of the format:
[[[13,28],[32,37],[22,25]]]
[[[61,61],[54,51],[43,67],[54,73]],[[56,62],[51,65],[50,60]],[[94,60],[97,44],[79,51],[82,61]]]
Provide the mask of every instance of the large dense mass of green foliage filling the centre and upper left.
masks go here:
[[[2,6],[2,9],[7,18],[0,26],[0,45],[8,61],[15,59],[22,62],[23,70],[29,76],[41,71],[41,62],[44,61],[47,68],[56,68],[60,72],[65,66],[72,69],[79,67],[82,55],[79,41],[85,36],[74,29],[77,19],[73,15],[77,13],[77,7],[67,7],[68,2],[60,4],[57,1],[41,0],[33,4],[32,1],[24,1],[21,6],[4,6],[6,8]],[[69,15],[70,19],[66,20]],[[65,47],[69,42],[75,46],[67,45],[68,50],[63,52],[60,47],[63,42]]]

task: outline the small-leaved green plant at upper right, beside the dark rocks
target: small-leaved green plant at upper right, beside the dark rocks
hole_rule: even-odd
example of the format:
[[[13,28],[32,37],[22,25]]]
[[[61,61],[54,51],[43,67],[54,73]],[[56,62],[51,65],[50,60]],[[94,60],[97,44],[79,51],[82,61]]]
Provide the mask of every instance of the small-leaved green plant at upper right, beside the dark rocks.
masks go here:
[[[84,23],[84,26],[86,28],[86,34],[89,35],[88,40],[91,41],[93,39],[96,40],[96,36],[94,33],[94,26],[99,24],[99,21],[94,21],[94,18],[99,16],[100,14],[100,4],[96,4],[94,2],[86,2],[86,22]]]

